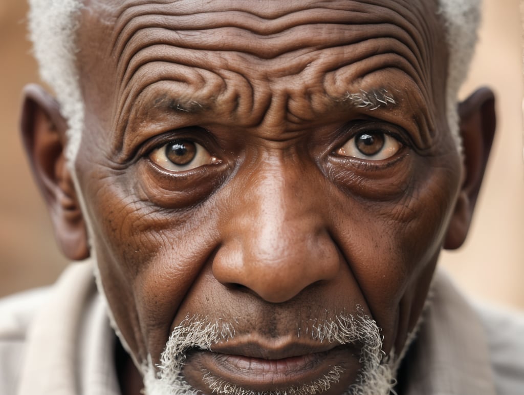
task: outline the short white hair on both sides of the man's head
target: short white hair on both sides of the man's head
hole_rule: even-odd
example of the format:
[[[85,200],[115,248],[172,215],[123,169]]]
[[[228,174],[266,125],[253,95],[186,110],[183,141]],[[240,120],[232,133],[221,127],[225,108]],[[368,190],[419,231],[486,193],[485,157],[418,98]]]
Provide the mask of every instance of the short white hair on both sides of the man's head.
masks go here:
[[[481,0],[438,0],[443,16],[449,64],[446,86],[447,120],[461,150],[457,95],[469,68],[477,40]],[[65,155],[72,166],[84,129],[84,104],[75,65],[75,31],[82,0],[29,0],[29,31],[43,81],[56,92],[68,121]]]

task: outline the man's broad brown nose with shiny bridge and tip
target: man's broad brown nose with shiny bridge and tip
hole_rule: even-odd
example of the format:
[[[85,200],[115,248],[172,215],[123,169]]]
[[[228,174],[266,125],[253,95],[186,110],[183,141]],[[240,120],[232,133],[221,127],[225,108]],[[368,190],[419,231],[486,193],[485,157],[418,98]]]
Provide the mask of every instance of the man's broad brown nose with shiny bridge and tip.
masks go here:
[[[318,168],[267,161],[235,178],[244,182],[224,210],[215,278],[246,287],[271,303],[286,302],[312,284],[334,279],[341,256],[326,229]]]

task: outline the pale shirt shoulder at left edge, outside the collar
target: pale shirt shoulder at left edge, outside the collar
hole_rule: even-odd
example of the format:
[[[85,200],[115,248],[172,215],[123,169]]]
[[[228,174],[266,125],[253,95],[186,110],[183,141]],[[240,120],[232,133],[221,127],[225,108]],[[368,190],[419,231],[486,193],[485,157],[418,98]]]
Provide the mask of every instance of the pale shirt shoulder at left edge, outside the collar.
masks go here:
[[[41,288],[0,299],[0,393],[15,393],[28,328],[48,295]]]

